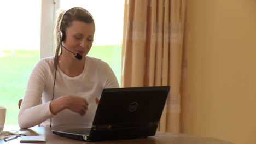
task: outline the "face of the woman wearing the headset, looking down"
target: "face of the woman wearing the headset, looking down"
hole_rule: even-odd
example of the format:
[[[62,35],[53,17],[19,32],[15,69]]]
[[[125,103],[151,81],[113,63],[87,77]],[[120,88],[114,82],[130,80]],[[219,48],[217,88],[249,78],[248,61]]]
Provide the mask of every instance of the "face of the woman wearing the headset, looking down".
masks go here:
[[[92,42],[94,41],[94,32],[95,26],[93,23],[73,21],[71,26],[65,31],[66,38],[63,41],[63,46],[84,57],[91,49]],[[71,52],[65,51],[65,49],[63,49],[63,53],[73,55]]]

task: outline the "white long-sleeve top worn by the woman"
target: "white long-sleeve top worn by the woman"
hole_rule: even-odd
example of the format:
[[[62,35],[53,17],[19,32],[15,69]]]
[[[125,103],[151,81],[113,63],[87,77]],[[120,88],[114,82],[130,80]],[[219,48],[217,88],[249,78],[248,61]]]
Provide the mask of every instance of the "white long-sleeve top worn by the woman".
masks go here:
[[[101,97],[103,88],[119,87],[113,70],[101,59],[86,56],[84,70],[76,77],[65,75],[58,67],[54,99],[76,95],[85,98],[89,105],[84,116],[68,109],[53,115],[50,112],[50,101],[53,98],[54,75],[54,57],[40,59],[33,68],[18,115],[21,128],[40,123],[49,126],[50,118],[53,127],[91,127],[97,108],[94,98]]]

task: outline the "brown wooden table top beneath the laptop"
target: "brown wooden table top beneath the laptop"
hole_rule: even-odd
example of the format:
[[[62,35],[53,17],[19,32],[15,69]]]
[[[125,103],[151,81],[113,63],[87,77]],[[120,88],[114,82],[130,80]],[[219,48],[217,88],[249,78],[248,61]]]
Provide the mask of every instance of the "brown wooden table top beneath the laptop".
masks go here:
[[[60,128],[49,128],[49,127],[32,127],[29,129],[20,129],[20,130],[28,130],[30,131],[31,135],[46,135],[47,136],[47,143],[55,143],[55,144],[66,144],[66,143],[73,143],[73,144],[82,144],[82,143],[119,143],[119,144],[128,144],[128,143],[143,143],[143,144],[234,144],[231,142],[207,138],[207,137],[199,137],[199,136],[190,136],[185,134],[171,134],[171,133],[162,133],[157,132],[155,136],[149,136],[146,139],[131,139],[131,140],[112,140],[112,141],[100,141],[100,142],[85,142],[79,140],[68,139],[66,137],[57,136],[51,133],[51,129],[60,129]],[[4,130],[19,130],[18,125],[5,125]],[[0,140],[0,144],[4,143],[4,140]],[[20,143],[20,139],[14,139],[5,142],[4,144],[8,143]]]

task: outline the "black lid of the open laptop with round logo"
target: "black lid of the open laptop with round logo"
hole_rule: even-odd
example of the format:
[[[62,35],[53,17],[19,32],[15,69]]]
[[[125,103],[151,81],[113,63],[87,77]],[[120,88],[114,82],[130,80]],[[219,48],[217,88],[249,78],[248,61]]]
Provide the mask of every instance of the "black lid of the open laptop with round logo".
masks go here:
[[[92,127],[158,124],[169,90],[169,86],[103,89]]]

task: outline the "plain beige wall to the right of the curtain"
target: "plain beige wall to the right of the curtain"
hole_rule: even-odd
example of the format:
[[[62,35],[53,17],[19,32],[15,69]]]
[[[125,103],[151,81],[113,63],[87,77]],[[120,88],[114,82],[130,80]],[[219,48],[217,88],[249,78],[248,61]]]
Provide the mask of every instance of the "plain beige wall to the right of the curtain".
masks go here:
[[[187,0],[185,131],[256,143],[256,1]]]

